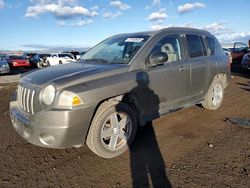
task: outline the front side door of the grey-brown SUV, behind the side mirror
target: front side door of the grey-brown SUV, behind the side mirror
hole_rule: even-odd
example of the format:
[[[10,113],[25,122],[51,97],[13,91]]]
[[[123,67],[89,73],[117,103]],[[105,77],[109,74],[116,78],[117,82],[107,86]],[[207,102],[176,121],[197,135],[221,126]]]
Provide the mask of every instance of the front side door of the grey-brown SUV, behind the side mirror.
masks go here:
[[[165,35],[159,39],[150,52],[150,54],[154,53],[168,55],[168,61],[163,65],[147,69],[149,86],[160,100],[160,113],[165,113],[182,107],[187,100],[190,86],[190,65],[184,61],[180,35]]]

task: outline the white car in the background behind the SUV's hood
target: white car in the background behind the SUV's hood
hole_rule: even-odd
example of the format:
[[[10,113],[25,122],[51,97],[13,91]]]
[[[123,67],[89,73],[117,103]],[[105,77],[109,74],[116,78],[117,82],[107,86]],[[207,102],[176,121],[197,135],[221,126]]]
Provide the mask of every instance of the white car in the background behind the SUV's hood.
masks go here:
[[[66,64],[75,62],[76,59],[70,53],[54,53],[51,54],[50,57],[47,57],[46,63],[48,66],[59,65],[59,64]]]

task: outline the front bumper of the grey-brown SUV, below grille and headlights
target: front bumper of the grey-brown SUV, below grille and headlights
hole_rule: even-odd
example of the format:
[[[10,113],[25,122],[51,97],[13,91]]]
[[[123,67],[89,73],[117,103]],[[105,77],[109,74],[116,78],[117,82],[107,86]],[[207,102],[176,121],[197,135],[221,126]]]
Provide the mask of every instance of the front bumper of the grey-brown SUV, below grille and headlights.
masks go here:
[[[84,144],[94,107],[50,109],[34,115],[10,103],[13,127],[28,142],[48,148],[79,147]]]

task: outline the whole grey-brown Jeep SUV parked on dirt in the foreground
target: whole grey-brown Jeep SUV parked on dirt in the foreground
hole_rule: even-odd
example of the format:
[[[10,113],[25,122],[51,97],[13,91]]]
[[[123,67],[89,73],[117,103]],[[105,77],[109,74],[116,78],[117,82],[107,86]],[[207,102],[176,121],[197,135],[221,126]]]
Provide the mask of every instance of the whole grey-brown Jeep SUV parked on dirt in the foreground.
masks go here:
[[[221,106],[230,65],[209,32],[167,28],[121,34],[93,47],[79,62],[23,76],[10,103],[13,127],[49,148],[87,143],[97,155],[120,155],[137,126],[202,104]]]

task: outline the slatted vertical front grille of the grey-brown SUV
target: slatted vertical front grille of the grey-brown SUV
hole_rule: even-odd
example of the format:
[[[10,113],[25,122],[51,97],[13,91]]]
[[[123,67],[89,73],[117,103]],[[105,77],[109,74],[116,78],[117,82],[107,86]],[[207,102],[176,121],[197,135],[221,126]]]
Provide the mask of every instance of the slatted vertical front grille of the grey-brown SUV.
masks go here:
[[[17,91],[18,105],[24,111],[31,114],[34,114],[34,96],[35,96],[35,90],[23,87],[21,85],[18,86],[18,91]]]

